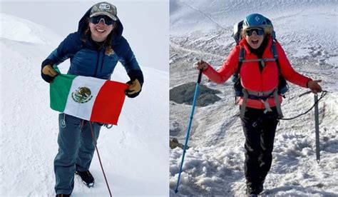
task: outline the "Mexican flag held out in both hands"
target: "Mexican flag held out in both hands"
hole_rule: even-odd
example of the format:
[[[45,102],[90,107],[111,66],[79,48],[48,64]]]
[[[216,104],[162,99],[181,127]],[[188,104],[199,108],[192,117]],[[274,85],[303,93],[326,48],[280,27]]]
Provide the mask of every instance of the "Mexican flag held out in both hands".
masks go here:
[[[59,74],[50,84],[51,108],[87,121],[117,125],[128,84]]]

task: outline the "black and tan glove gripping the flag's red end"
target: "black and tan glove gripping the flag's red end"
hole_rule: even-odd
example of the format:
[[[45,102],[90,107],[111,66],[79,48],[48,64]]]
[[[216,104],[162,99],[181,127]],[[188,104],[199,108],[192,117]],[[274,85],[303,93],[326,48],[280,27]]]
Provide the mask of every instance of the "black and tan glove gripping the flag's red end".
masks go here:
[[[143,73],[140,70],[132,70],[128,73],[130,81],[127,82],[130,86],[126,89],[126,96],[135,98],[142,91],[143,86]]]

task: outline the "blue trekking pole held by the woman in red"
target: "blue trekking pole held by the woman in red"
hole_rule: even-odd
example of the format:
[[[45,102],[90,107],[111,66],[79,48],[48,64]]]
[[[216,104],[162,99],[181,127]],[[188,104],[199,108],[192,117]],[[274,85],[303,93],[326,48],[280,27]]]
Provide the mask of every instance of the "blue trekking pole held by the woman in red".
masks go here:
[[[195,94],[194,94],[194,99],[193,99],[193,109],[191,110],[189,125],[188,125],[188,128],[187,128],[187,136],[185,136],[185,143],[184,143],[184,147],[183,147],[183,156],[182,156],[182,161],[180,162],[180,173],[182,173],[185,151],[188,147],[188,140],[189,140],[189,136],[190,136],[190,128],[191,128],[191,123],[193,123],[193,116],[194,116],[194,111],[195,111],[196,100],[198,99],[198,94],[200,94],[200,80],[202,79],[202,72],[203,72],[203,69],[200,69],[200,74],[198,74],[198,82],[196,83],[196,89],[195,89]],[[175,193],[178,193],[178,185],[180,184],[180,173],[178,173],[178,183],[176,184]]]

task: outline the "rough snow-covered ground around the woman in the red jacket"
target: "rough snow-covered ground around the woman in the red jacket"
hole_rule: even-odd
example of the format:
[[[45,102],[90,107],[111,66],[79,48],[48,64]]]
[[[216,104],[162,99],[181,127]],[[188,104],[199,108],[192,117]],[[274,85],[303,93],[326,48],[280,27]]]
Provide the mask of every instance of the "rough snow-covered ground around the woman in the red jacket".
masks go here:
[[[338,2],[337,1],[170,1],[170,88],[195,82],[193,63],[204,59],[217,68],[235,46],[232,26],[247,14],[272,20],[277,40],[294,68],[322,79],[329,91],[319,103],[321,161],[317,164],[314,111],[280,121],[272,168],[263,196],[338,196]],[[243,196],[244,135],[234,115],[232,82],[203,84],[222,91],[222,99],[195,109],[179,192],[174,193],[182,149],[170,151],[170,196]],[[282,103],[285,117],[306,111],[313,94],[290,84]],[[170,101],[170,136],[184,143],[191,106]],[[180,132],[178,132],[180,128]]]

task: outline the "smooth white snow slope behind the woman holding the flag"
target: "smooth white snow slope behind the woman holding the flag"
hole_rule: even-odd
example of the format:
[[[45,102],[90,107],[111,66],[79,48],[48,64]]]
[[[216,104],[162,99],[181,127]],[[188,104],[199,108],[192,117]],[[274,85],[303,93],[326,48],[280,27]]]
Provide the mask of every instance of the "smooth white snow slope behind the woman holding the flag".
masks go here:
[[[40,69],[57,46],[48,41],[59,38],[38,24],[1,14],[1,24],[8,21],[16,29],[6,29],[0,38],[0,196],[53,196],[58,112],[49,108]],[[68,61],[61,71],[67,66]],[[102,128],[98,138],[113,196],[168,196],[168,73],[142,69],[142,93],[126,98],[118,126]],[[117,66],[112,80],[129,80],[123,66]],[[72,196],[108,196],[96,153],[91,172],[95,187],[86,188],[76,176]]]

